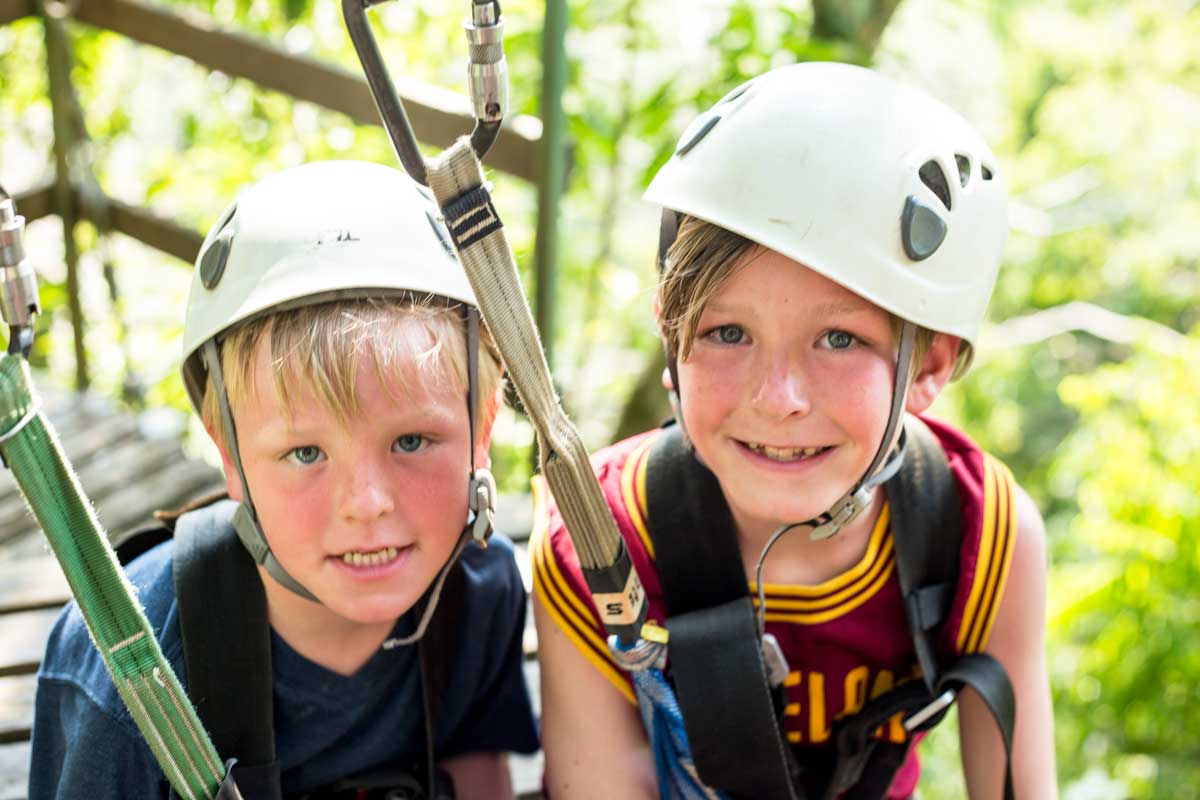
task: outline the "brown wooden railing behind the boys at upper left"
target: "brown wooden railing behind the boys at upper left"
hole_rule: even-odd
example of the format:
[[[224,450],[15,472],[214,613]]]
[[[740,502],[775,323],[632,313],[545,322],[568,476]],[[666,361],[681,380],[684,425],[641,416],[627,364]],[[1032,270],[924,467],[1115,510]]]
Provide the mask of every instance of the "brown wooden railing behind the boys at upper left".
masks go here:
[[[70,41],[65,24],[74,20],[109,30],[137,42],[184,55],[196,64],[221,71],[230,77],[245,78],[256,84],[307,101],[323,108],[346,114],[361,124],[379,125],[379,115],[366,79],[342,67],[312,58],[287,53],[270,42],[218,25],[210,17],[190,10],[168,10],[142,0],[0,0],[0,25],[29,16],[41,16],[46,25],[47,65],[50,77],[50,101],[54,112],[55,179],[44,186],[25,188],[17,193],[17,206],[26,219],[56,215],[62,219],[65,261],[67,267],[67,303],[74,329],[74,383],[78,389],[90,384],[88,353],[84,347],[86,320],[79,303],[78,259],[74,229],[80,221],[96,225],[102,233],[116,231],[137,239],[161,252],[192,263],[203,242],[203,235],[190,227],[155,212],[108,197],[85,169],[80,179],[79,164],[72,160],[72,148],[86,140],[83,113],[71,85]],[[397,92],[404,102],[414,132],[421,142],[448,146],[455,138],[468,133],[474,125],[467,97],[421,82],[394,77]],[[556,128],[557,131],[558,128]],[[505,120],[496,144],[487,155],[487,166],[517,178],[538,181],[542,155],[541,121],[529,115]],[[562,149],[560,137],[546,143]],[[552,164],[556,160],[548,160]],[[73,169],[67,169],[71,163]],[[562,181],[560,170],[552,170]],[[14,188],[14,187],[10,187]],[[535,264],[538,284],[547,283],[554,269],[557,236],[557,197],[553,192],[539,194],[538,242]],[[546,198],[551,198],[548,204]],[[546,336],[546,332],[544,332]]]

